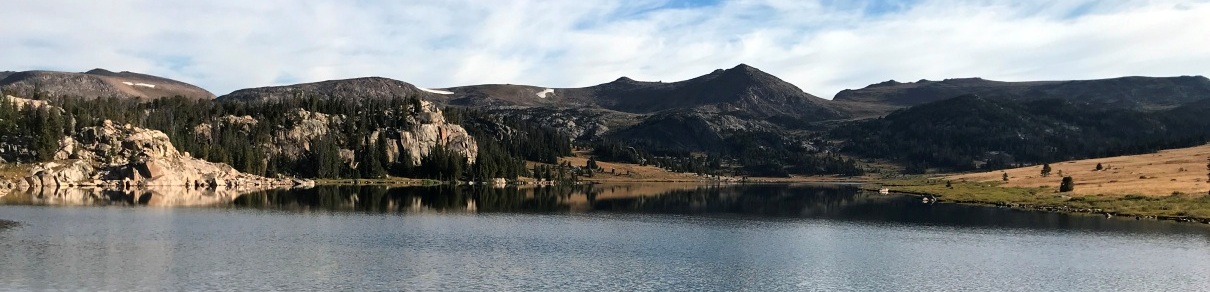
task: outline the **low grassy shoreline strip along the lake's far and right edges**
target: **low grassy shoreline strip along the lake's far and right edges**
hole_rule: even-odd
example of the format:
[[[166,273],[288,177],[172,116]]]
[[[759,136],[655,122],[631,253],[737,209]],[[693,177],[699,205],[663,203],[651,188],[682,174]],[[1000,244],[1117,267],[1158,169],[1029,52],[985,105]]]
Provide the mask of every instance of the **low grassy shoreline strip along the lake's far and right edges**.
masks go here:
[[[517,179],[507,184],[485,182],[450,182],[405,177],[388,178],[339,178],[313,179],[306,187],[436,187],[436,185],[497,185],[497,187],[534,187],[558,184],[532,179]],[[1008,207],[1025,211],[1041,211],[1067,214],[1095,214],[1106,217],[1135,217],[1135,219],[1172,221],[1183,223],[1210,224],[1210,199],[1205,195],[1071,195],[1053,193],[1045,188],[1004,187],[996,182],[950,181],[952,188],[945,187],[941,178],[887,179],[874,177],[839,176],[802,176],[802,177],[715,177],[705,178],[687,174],[684,177],[601,177],[580,178],[575,184],[627,184],[627,183],[699,183],[699,184],[791,184],[791,183],[829,183],[855,184],[863,190],[878,191],[882,188],[892,193],[912,196],[934,196],[941,204],[961,204],[986,207]],[[261,185],[267,187],[267,185]],[[284,187],[284,185],[282,185]],[[298,187],[298,185],[295,185]],[[62,187],[59,187],[62,188]],[[70,187],[68,187],[70,188]],[[1192,210],[1189,208],[1192,206]],[[2,222],[0,222],[2,225]]]

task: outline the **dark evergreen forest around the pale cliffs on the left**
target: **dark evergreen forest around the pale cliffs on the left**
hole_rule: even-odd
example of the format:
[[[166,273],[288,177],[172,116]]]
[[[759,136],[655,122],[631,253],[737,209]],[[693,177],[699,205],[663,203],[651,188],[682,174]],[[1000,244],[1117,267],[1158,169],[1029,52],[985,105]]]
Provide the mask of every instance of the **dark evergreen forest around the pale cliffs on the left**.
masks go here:
[[[421,101],[414,97],[333,101],[300,96],[271,102],[60,97],[45,101],[62,110],[16,110],[12,103],[0,103],[0,134],[5,141],[34,144],[35,150],[28,151],[22,161],[51,160],[58,147],[57,137],[100,126],[104,120],[162,131],[180,151],[258,176],[488,181],[528,176],[526,159],[553,161],[571,151],[570,139],[538,126],[519,121],[471,122],[465,126],[478,143],[474,161],[438,147],[419,164],[408,159],[407,149],[398,148],[397,155],[403,159],[392,162],[387,160],[388,143],[384,136],[415,126],[424,109]],[[289,115],[300,109],[328,115],[327,133],[310,139],[310,147],[301,155],[277,153],[275,148],[281,141],[275,134],[295,126]],[[455,124],[488,120],[478,111],[446,110],[448,120]],[[198,126],[203,124],[209,126]],[[374,132],[379,133],[376,139],[371,138]],[[27,142],[34,139],[44,141]]]

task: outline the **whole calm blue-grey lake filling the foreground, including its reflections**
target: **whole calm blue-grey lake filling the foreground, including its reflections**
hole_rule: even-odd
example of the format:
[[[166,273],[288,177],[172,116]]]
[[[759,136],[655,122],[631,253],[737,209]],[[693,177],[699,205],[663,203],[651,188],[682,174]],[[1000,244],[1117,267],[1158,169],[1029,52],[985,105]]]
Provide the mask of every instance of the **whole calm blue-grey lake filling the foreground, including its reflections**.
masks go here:
[[[1210,291],[1204,225],[843,185],[23,196],[0,197],[0,290]]]

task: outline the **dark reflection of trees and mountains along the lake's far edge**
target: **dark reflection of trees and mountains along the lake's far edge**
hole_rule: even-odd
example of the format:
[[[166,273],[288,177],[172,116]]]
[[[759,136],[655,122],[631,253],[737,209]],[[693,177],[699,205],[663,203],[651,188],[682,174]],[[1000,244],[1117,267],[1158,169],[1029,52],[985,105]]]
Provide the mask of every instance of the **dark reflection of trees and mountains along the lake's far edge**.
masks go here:
[[[1197,231],[1171,222],[1106,219],[881,195],[842,184],[617,184],[577,187],[323,187],[243,195],[235,206],[359,212],[607,212],[820,218],[895,224],[1104,231]]]

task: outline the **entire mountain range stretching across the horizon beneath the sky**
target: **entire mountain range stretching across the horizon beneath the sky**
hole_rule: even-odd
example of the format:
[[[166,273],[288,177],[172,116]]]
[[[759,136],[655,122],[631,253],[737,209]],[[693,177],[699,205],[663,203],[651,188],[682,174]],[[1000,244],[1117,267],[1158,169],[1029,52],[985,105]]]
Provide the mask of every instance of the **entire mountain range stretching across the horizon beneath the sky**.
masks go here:
[[[1206,122],[1200,121],[1210,104],[1210,79],[1204,76],[1026,82],[979,78],[891,80],[824,99],[739,64],[674,82],[623,76],[574,88],[499,84],[424,88],[386,78],[356,78],[244,88],[214,97],[175,80],[94,69],[2,71],[0,90],[25,97],[150,101],[183,96],[219,103],[358,103],[419,97],[500,120],[542,125],[582,144],[616,143],[656,153],[724,156],[847,153],[950,168],[1153,150],[1202,143],[1210,137],[1210,125],[1202,127]],[[929,134],[944,141],[930,139]],[[1088,141],[1058,142],[1064,137]],[[1068,149],[1055,149],[1062,147]]]

